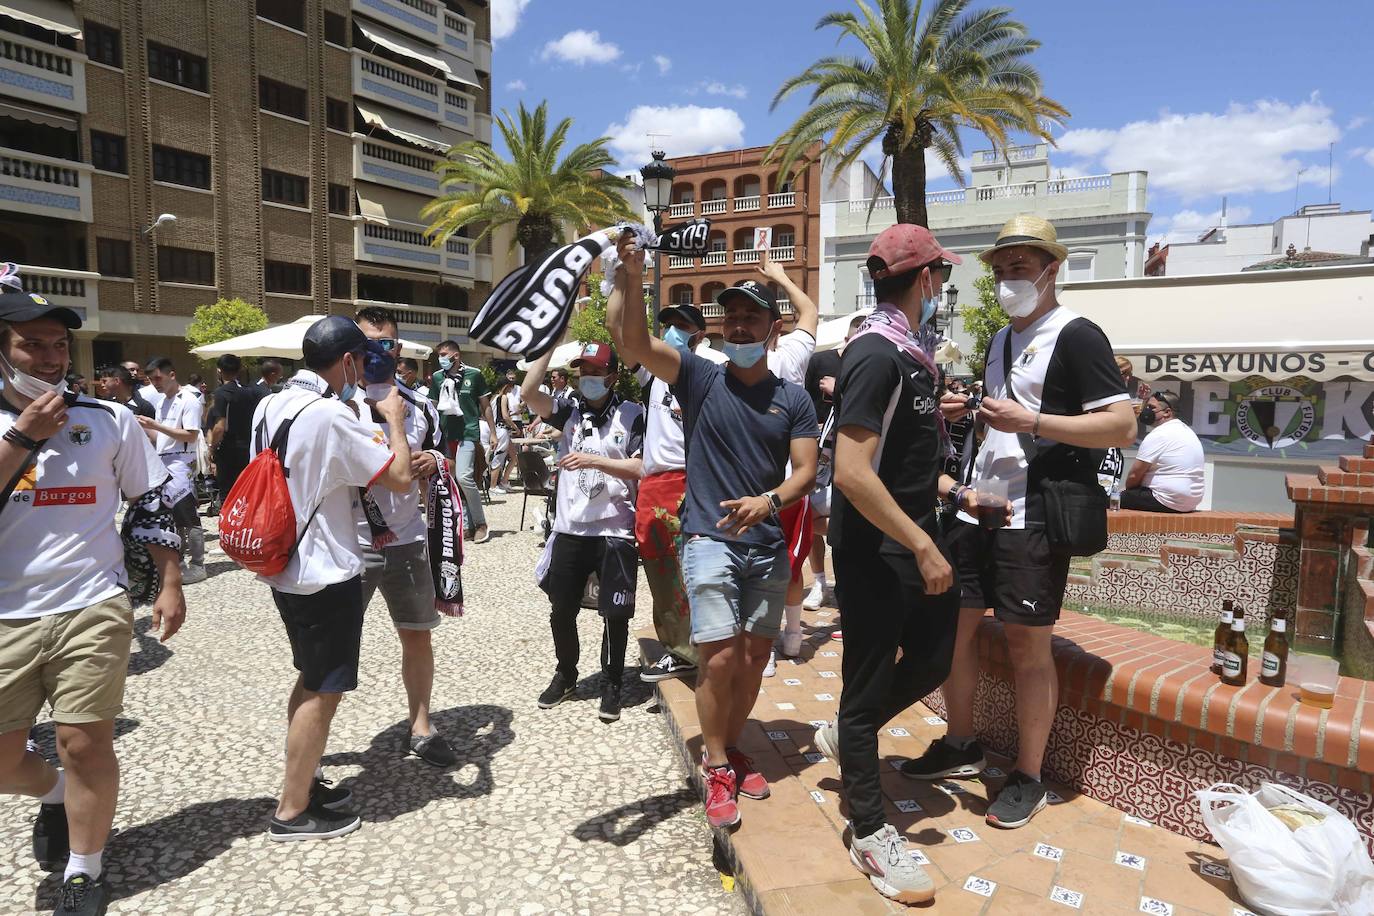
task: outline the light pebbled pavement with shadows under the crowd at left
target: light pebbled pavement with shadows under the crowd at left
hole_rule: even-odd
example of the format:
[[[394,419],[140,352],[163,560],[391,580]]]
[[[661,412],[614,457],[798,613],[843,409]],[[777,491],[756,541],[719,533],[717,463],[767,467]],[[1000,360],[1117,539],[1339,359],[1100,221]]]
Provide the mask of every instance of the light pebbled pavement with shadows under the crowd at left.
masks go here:
[[[381,596],[368,610],[360,687],[339,707],[324,761],[363,817],[349,836],[264,836],[294,680],[267,586],[216,553],[166,647],[139,618],[115,742],[110,912],[743,912],[712,865],[701,805],[638,667],[627,670],[621,721],[596,718],[595,611],[581,619],[576,699],[534,705],[554,665],[548,602],[532,582],[537,536],[513,530],[518,497],[496,499],[496,537],[471,547],[464,569],[467,617],[434,633],[434,721],[459,753],[451,770],[398,754],[400,647]],[[643,623],[643,582],[639,595]],[[41,736],[51,757],[51,722]],[[36,810],[0,797],[0,913],[55,905],[60,875],[40,872],[29,851]]]

